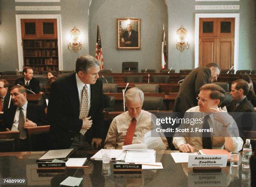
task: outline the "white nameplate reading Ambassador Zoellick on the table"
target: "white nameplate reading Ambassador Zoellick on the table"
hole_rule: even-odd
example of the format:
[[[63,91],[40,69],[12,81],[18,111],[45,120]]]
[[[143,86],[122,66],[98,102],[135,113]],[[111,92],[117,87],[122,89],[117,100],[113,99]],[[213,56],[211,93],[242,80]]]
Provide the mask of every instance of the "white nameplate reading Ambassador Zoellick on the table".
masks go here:
[[[189,155],[188,167],[226,167],[228,155]]]

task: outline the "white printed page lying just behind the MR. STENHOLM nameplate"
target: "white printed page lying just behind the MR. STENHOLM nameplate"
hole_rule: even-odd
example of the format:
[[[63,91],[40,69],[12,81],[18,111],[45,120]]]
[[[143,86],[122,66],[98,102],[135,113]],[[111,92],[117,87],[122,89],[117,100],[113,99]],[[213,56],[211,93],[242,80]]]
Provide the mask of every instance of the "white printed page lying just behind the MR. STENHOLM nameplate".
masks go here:
[[[126,153],[125,162],[127,163],[156,162],[156,151],[155,150],[129,150]]]

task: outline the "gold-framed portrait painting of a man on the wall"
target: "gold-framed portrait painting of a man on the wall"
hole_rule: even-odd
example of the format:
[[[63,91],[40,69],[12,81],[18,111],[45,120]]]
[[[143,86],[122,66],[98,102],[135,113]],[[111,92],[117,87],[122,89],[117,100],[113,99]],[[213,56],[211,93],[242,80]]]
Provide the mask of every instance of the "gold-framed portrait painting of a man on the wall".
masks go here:
[[[141,49],[141,19],[117,19],[117,49]]]

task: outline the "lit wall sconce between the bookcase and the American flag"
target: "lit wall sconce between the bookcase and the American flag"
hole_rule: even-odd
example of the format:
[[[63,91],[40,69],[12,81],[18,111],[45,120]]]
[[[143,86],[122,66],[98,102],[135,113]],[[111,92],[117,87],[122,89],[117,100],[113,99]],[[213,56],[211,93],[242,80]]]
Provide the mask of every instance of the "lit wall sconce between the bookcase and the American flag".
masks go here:
[[[68,40],[68,48],[69,50],[72,49],[75,53],[78,52],[78,50],[82,49],[82,43],[81,43],[81,39],[80,39],[80,31],[74,27],[71,31],[70,31],[70,41]]]

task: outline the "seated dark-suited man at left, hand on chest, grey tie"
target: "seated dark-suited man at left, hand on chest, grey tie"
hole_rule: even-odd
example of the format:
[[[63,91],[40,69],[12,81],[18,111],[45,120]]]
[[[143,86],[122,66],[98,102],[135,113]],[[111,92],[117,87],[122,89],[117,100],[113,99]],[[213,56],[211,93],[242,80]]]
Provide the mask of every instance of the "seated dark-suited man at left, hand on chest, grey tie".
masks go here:
[[[27,151],[28,127],[46,125],[46,116],[41,106],[28,103],[25,87],[15,85],[10,89],[13,105],[4,112],[3,130],[20,131],[20,151]]]

